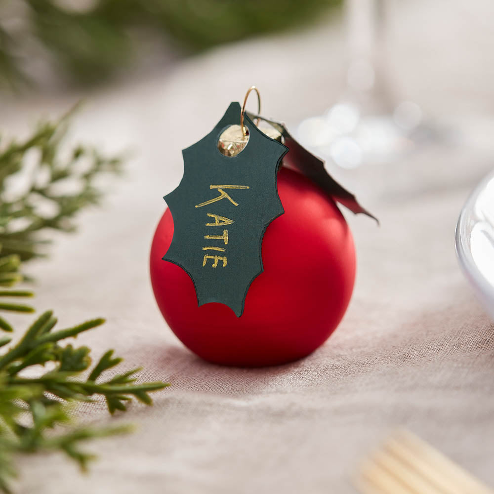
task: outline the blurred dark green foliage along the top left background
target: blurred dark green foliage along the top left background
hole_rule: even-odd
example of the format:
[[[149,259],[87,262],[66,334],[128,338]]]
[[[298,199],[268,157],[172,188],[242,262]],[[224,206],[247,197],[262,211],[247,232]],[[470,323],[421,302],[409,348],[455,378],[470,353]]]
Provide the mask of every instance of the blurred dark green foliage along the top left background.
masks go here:
[[[70,83],[100,82],[145,57],[150,39],[193,54],[293,28],[341,1],[0,0],[0,85],[36,85],[40,64]]]

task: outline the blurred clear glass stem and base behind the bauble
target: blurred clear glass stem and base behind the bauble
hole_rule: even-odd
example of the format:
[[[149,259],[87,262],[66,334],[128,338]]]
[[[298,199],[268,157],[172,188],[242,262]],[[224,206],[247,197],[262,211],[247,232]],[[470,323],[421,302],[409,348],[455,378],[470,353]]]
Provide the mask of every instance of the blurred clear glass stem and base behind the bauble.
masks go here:
[[[385,0],[346,0],[346,90],[322,116],[298,126],[298,140],[343,168],[387,162],[428,137],[422,110],[394,96],[385,63]]]

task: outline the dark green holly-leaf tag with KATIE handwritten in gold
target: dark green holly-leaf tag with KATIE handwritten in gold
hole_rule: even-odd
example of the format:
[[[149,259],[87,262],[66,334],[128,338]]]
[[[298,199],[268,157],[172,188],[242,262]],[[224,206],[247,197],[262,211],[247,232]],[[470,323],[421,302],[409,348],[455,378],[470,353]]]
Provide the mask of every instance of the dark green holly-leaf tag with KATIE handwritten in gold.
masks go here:
[[[182,151],[183,178],[165,196],[174,230],[163,257],[191,277],[199,306],[223,303],[237,317],[250,284],[262,272],[264,232],[284,212],[276,174],[288,151],[246,116],[246,147],[224,156],[219,136],[239,119],[240,104],[231,103],[206,137]]]

